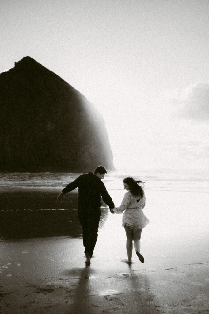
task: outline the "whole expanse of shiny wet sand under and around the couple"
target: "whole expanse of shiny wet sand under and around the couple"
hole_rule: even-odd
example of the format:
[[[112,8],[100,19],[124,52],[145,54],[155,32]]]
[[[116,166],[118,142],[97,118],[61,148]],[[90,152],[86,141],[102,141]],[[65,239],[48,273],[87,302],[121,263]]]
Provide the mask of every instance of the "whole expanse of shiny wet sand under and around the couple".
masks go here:
[[[75,231],[80,228],[76,211],[70,209],[73,206],[62,204],[60,209],[66,210],[50,209],[46,217],[41,210],[46,207],[43,199],[51,199],[57,192],[35,191],[39,210],[16,211],[23,210],[22,218],[30,221],[33,232],[40,218],[45,222],[37,234],[24,237],[25,226],[21,234],[9,236],[6,231],[13,220],[7,216],[7,229],[1,220],[1,314],[209,313],[207,194],[191,198],[189,192],[146,192],[144,212],[150,224],[142,231],[143,264],[134,251],[133,263],[126,263],[122,215],[113,215],[103,207],[98,241],[91,265],[86,267],[81,234]],[[1,200],[4,196],[8,202],[9,196],[2,193]],[[26,194],[24,191],[22,200]],[[110,194],[119,205],[124,191]],[[71,197],[76,202],[75,195]],[[3,203],[1,206],[6,206]],[[5,220],[8,212],[1,213]],[[15,221],[17,217],[13,217]],[[57,224],[51,225],[53,219]],[[72,223],[77,227],[73,229]]]

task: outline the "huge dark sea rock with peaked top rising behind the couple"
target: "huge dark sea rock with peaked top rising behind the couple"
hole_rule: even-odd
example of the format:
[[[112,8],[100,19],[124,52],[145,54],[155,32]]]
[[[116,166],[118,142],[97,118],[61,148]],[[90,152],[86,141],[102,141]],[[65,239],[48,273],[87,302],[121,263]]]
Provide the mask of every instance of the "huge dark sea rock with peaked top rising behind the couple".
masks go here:
[[[34,59],[0,74],[0,110],[0,171],[114,169],[102,115]]]

